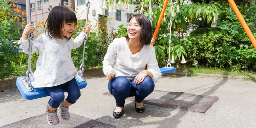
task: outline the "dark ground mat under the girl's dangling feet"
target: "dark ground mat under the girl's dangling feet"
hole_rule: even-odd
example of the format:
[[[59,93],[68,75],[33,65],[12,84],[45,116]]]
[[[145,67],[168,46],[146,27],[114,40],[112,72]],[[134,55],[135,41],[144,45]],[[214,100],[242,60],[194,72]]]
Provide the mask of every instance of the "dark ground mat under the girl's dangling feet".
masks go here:
[[[58,114],[60,114],[60,111],[58,111]],[[88,119],[72,113],[70,113],[70,119],[68,121],[62,120],[60,116],[59,119],[60,123],[58,125],[51,126],[47,123],[45,113],[39,116],[17,121],[12,124],[7,124],[0,128],[116,128],[113,125]]]

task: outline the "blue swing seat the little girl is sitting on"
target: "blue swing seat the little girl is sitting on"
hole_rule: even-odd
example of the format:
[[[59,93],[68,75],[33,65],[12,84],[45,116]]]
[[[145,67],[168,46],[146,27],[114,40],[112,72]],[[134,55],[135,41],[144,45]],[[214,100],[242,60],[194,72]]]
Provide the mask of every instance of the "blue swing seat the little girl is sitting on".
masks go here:
[[[49,96],[48,92],[45,91],[45,88],[33,88],[32,91],[28,91],[25,85],[22,82],[22,79],[26,79],[26,76],[20,76],[16,80],[16,86],[18,87],[21,95],[28,100],[33,100],[37,98],[42,98]],[[87,85],[87,81],[84,79],[84,81],[80,80],[77,76],[75,77],[76,82],[78,84],[79,89],[85,88]],[[64,92],[66,90],[63,89]]]

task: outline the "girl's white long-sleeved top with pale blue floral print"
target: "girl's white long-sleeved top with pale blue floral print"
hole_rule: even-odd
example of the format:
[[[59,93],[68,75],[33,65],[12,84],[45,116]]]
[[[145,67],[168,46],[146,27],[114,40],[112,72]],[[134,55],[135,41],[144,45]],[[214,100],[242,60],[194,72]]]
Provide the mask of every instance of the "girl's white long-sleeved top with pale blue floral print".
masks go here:
[[[66,83],[73,79],[77,70],[71,58],[71,49],[78,48],[83,43],[83,34],[76,39],[49,38],[45,33],[32,42],[32,54],[39,50],[36,70],[31,78],[31,85],[38,87],[52,87]],[[19,41],[23,52],[29,54],[29,41]]]

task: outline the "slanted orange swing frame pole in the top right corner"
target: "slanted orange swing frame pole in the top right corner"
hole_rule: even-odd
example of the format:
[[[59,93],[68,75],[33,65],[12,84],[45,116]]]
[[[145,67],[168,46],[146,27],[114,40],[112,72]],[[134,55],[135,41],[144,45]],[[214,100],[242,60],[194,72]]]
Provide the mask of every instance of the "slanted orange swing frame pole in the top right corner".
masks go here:
[[[228,0],[228,2],[231,5],[233,11],[236,13],[236,16],[237,16],[238,20],[240,21],[240,23],[242,24],[245,33],[247,34],[247,36],[251,40],[251,43],[252,43],[253,47],[256,50],[256,40],[255,40],[255,38],[252,34],[251,29],[248,27],[247,23],[245,22],[244,17],[242,16],[241,12],[237,8],[236,3],[234,2],[234,0]]]

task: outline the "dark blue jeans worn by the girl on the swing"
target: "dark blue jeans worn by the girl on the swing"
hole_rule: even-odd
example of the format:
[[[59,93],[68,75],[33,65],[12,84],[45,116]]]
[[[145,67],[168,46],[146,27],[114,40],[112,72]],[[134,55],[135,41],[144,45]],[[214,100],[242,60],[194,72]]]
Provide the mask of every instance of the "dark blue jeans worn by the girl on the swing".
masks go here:
[[[81,96],[81,92],[75,78],[58,86],[46,87],[45,90],[51,96],[50,100],[48,101],[50,107],[58,108],[60,106],[60,103],[65,98],[63,89],[68,92],[68,97],[66,99],[68,103],[74,104]]]

